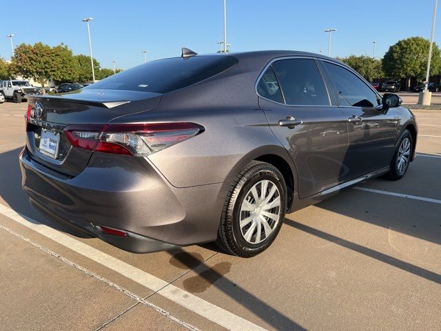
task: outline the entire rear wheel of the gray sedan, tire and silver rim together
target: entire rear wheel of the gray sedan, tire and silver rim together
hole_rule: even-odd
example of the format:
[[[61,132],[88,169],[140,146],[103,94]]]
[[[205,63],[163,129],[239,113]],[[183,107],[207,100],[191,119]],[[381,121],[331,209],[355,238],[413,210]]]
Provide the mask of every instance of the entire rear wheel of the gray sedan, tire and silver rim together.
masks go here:
[[[258,199],[254,199],[255,194]],[[238,174],[227,194],[216,244],[229,254],[254,257],[276,239],[286,209],[283,175],[274,165],[252,161]],[[240,221],[245,223],[240,226]]]

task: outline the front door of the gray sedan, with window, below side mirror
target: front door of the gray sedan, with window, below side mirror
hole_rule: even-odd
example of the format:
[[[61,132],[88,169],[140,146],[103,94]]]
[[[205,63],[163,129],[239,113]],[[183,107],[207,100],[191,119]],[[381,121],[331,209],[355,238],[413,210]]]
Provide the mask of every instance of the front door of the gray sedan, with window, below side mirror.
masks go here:
[[[382,110],[380,95],[358,74],[338,63],[322,62],[340,110],[347,116],[349,177],[360,177],[387,167],[398,138],[399,118]]]

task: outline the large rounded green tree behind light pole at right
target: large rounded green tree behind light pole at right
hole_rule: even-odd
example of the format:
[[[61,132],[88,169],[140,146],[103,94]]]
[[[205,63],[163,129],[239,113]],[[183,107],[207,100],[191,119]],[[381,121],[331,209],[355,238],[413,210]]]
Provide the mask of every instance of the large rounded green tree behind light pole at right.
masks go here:
[[[411,37],[391,46],[383,59],[383,70],[389,77],[407,78],[410,88],[411,77],[425,79],[430,41],[422,37]],[[441,70],[440,49],[433,43],[430,74]]]

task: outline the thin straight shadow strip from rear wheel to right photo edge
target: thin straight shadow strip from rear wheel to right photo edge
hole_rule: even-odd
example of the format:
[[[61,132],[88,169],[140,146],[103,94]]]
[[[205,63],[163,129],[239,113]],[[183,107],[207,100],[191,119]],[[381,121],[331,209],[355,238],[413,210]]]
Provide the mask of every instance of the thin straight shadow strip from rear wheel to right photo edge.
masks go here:
[[[300,231],[307,232],[309,234],[312,234],[313,236],[325,239],[327,241],[330,241],[331,243],[335,243],[336,245],[340,245],[349,250],[364,254],[368,257],[371,257],[372,259],[376,259],[378,261],[392,265],[393,267],[411,272],[412,274],[416,274],[416,276],[441,284],[441,274],[437,274],[436,272],[431,272],[430,270],[420,268],[417,265],[402,261],[400,259],[397,259],[396,257],[391,257],[390,255],[378,252],[371,248],[367,248],[363,245],[359,245],[358,243],[353,243],[352,241],[336,237],[333,234],[329,234],[316,228],[311,228],[308,225],[292,221],[291,219],[285,219],[284,223]]]

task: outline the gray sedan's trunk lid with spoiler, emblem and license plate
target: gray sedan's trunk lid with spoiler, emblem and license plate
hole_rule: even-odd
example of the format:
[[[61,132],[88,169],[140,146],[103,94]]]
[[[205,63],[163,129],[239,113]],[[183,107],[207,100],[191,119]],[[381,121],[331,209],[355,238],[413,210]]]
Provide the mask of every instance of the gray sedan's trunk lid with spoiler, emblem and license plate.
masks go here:
[[[26,146],[34,161],[74,177],[86,167],[92,151],[73,148],[63,132],[66,127],[102,128],[117,117],[154,109],[161,95],[87,88],[61,95],[29,96]]]

